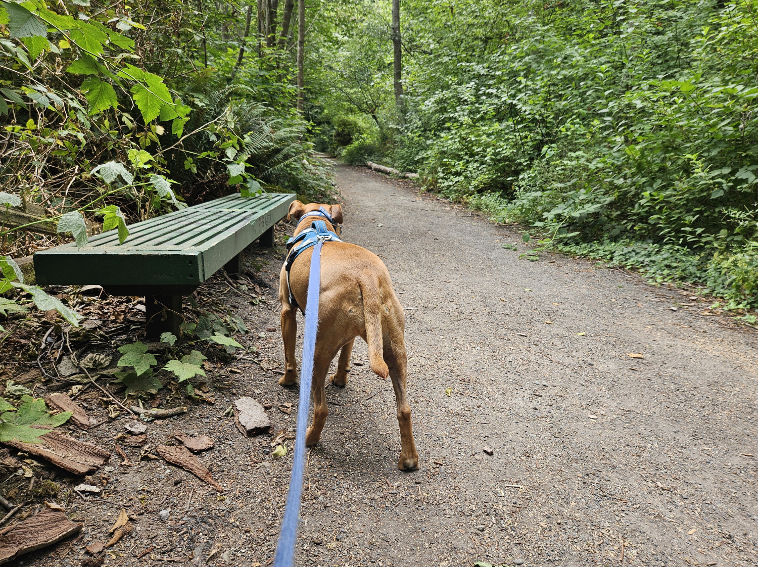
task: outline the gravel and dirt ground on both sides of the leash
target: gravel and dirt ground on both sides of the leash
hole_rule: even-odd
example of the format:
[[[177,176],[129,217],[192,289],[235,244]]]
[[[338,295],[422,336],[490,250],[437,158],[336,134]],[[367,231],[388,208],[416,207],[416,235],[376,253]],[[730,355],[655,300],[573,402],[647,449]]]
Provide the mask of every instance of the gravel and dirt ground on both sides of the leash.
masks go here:
[[[297,565],[758,564],[755,334],[620,271],[519,259],[526,247],[507,227],[407,182],[340,167],[338,185],[343,237],[381,255],[406,310],[420,469],[396,468],[392,387],[356,341],[309,455]],[[123,446],[135,465],[114,456],[89,478],[105,480],[100,496],[69,493],[67,511],[85,523],[71,553],[48,549],[27,564],[78,565],[84,545],[110,539],[122,506],[134,530],[106,565],[271,563],[292,453],[271,455],[267,434],[242,437],[224,410],[252,396],[291,437],[296,411],[285,404],[296,408],[297,390],[276,374],[282,252],[249,251],[272,287],[258,305],[223,278],[201,293],[253,330],[240,339],[244,358],[208,370],[215,405],[148,425],[150,443],[175,431],[213,437],[199,460],[224,493]],[[80,438],[112,450],[127,421]]]

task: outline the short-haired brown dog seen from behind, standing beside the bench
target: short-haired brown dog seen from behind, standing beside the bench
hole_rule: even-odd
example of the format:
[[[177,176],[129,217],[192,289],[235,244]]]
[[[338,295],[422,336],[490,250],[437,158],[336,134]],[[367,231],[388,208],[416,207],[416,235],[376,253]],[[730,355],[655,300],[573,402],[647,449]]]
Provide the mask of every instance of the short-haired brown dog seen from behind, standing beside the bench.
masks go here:
[[[287,215],[287,220],[294,218],[299,221],[295,236],[310,227],[315,220],[326,222],[327,228],[334,232],[335,227],[325,218],[306,217],[300,220],[306,212],[318,211],[320,207],[329,211],[335,224],[342,224],[340,205],[303,205],[296,201],[290,205]],[[290,304],[290,287],[297,305],[305,310],[312,252],[313,248],[309,248],[297,257],[290,269],[289,286],[284,267],[279,277],[282,339],[286,360],[286,373],[279,381],[282,386],[291,386],[297,380],[296,306]],[[330,377],[330,381],[335,386],[344,387],[350,371],[352,343],[356,337],[361,337],[368,344],[371,370],[383,378],[388,375],[392,378],[402,445],[397,465],[403,470],[418,468],[411,409],[406,399],[405,327],[406,318],[392,289],[390,273],[377,255],[355,244],[325,243],[321,249],[321,297],[318,302],[318,333],[313,363],[313,423],[305,436],[306,445],[318,443],[329,413],[324,395],[324,381],[329,365],[337,351],[342,349],[337,372]]]

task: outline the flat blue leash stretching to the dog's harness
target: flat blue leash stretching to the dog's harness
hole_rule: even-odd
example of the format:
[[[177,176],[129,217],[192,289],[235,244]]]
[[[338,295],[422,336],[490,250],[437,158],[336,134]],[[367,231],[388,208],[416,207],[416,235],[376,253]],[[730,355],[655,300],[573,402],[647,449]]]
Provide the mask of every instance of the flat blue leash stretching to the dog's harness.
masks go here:
[[[318,330],[318,296],[321,293],[321,246],[313,247],[311,272],[308,280],[308,299],[305,303],[305,334],[302,340],[302,371],[300,373],[300,401],[297,406],[297,428],[295,437],[295,458],[292,463],[290,493],[287,494],[287,508],[279,532],[277,554],[274,567],[292,567],[295,561],[297,523],[302,496],[302,472],[305,468],[305,426],[311,406],[311,381],[313,380],[313,357],[316,349]]]

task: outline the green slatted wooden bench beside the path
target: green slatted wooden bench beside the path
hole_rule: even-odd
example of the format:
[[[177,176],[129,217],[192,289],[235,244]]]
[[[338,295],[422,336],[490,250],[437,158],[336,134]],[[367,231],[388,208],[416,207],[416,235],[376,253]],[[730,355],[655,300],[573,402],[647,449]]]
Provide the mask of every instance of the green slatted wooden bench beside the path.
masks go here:
[[[116,230],[36,252],[40,285],[99,284],[115,296],[145,296],[147,331],[179,333],[182,296],[220,268],[240,273],[242,251],[256,239],[274,246],[274,224],[287,215],[294,194],[243,197],[239,193]]]

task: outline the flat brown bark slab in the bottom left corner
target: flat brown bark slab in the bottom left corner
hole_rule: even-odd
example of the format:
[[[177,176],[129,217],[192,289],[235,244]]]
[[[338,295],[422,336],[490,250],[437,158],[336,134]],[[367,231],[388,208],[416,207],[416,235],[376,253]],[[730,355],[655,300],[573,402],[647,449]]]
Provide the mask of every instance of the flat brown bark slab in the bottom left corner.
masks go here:
[[[0,531],[0,565],[24,553],[57,544],[83,527],[81,522],[71,522],[64,512],[42,508],[36,515]]]

